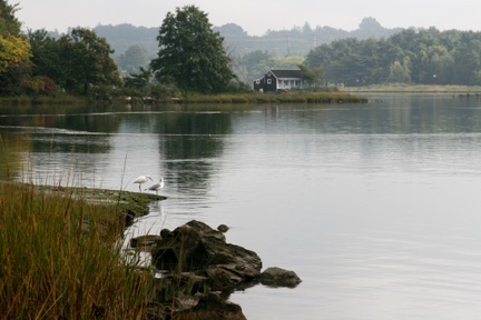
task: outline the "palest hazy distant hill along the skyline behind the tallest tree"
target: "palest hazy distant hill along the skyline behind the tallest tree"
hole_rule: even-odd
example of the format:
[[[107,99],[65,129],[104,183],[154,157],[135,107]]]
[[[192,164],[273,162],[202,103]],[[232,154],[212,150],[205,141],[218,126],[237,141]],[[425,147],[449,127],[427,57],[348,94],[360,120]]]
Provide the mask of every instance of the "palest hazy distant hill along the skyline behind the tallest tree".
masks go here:
[[[116,56],[125,53],[130,46],[141,46],[148,56],[156,56],[158,51],[158,28],[135,27],[131,24],[97,26],[96,33],[105,37],[116,51]],[[230,54],[245,56],[248,52],[262,50],[273,56],[305,56],[312,48],[345,38],[389,38],[402,31],[402,28],[387,29],[374,18],[364,18],[359,28],[353,31],[334,29],[331,27],[311,28],[306,22],[302,28],[291,30],[268,30],[264,36],[249,36],[235,23],[214,27],[224,37],[224,42]]]

